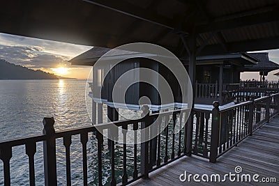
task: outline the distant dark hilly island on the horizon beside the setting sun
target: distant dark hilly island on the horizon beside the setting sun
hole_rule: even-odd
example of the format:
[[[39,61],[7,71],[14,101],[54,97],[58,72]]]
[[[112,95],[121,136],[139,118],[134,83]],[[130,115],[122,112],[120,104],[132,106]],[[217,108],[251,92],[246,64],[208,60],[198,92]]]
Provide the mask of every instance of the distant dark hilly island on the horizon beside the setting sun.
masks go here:
[[[75,79],[57,76],[42,70],[32,70],[0,59],[0,79]]]

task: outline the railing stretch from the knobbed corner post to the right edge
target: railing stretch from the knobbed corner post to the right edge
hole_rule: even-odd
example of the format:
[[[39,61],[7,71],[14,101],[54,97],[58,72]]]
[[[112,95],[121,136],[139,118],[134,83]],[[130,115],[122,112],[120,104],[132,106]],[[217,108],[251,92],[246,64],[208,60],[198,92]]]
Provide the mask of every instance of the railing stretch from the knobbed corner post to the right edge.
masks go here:
[[[252,135],[257,128],[279,113],[279,93],[257,98],[232,107],[212,111],[210,162]]]

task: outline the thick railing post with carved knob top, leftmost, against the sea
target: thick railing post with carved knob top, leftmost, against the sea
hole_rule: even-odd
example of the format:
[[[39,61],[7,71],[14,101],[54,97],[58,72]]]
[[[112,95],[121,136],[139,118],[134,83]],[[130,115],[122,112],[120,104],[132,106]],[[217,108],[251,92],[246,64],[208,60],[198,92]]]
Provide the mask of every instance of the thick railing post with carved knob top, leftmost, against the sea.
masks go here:
[[[45,185],[55,186],[57,185],[56,175],[56,142],[55,142],[55,130],[54,130],[54,118],[43,119],[43,134],[46,139],[43,141],[43,157],[45,168]]]

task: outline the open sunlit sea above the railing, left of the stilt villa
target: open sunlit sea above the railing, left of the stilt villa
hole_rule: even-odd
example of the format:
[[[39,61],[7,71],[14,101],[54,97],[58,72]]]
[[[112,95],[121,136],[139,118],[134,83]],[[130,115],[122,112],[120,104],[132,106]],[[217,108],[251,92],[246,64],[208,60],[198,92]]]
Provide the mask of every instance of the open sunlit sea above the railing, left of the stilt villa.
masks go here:
[[[0,80],[0,139],[42,134],[43,118],[56,130],[91,125],[85,105],[86,81]]]

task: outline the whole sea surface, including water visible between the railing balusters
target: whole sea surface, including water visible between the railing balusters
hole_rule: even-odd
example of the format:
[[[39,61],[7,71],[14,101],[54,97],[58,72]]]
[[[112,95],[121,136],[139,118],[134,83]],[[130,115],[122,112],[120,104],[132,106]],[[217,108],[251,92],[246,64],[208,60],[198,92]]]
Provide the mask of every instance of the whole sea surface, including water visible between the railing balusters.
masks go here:
[[[86,111],[86,81],[84,80],[0,80],[0,141],[42,134],[43,118],[53,116],[55,130],[91,125]],[[104,107],[104,109],[106,109]],[[123,116],[137,118],[139,112],[121,111]],[[119,116],[121,119],[121,116]],[[105,113],[103,121],[107,121]],[[171,135],[170,127],[169,135]],[[183,135],[182,135],[183,136]],[[80,136],[73,136],[70,146],[72,185],[83,185],[82,146]],[[165,145],[162,136],[161,144]],[[183,140],[182,140],[183,141]],[[169,140],[168,146],[172,142]],[[175,143],[178,143],[176,140]],[[139,146],[138,146],[139,148]],[[171,148],[169,148],[171,150]],[[161,149],[163,155],[163,148]],[[103,146],[103,185],[110,183],[110,150],[107,139]],[[138,164],[140,153],[138,152]],[[121,182],[123,146],[116,144],[116,180]],[[171,152],[169,151],[169,154]],[[128,176],[133,176],[133,146],[127,146]],[[97,139],[89,133],[87,144],[89,185],[98,184]],[[66,185],[65,148],[62,139],[56,139],[58,184]],[[29,185],[29,164],[24,146],[13,148],[10,160],[11,185]],[[43,143],[37,143],[35,154],[36,185],[44,185]],[[3,162],[0,161],[0,185],[3,185]]]

